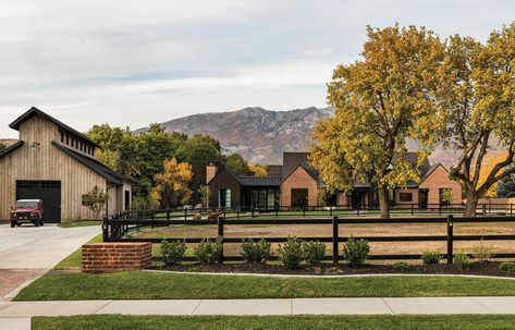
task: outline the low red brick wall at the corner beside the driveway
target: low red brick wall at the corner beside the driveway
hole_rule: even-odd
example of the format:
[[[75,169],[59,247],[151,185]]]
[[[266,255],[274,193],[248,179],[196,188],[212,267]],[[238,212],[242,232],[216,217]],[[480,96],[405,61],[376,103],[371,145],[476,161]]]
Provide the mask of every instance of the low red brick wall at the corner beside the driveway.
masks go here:
[[[151,243],[93,243],[83,245],[83,272],[139,270],[152,261]]]

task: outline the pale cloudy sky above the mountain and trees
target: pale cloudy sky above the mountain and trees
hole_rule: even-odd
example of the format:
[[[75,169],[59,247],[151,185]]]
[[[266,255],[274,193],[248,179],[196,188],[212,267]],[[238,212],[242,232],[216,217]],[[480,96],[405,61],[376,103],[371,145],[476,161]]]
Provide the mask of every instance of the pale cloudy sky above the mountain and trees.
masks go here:
[[[79,131],[324,107],[367,25],[486,40],[513,21],[513,0],[0,0],[0,137],[32,106]]]

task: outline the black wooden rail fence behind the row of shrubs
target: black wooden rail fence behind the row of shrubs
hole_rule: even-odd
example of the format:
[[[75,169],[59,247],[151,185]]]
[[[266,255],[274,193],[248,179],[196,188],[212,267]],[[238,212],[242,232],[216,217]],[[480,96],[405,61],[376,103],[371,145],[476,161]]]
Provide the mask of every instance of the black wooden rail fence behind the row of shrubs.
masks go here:
[[[343,258],[340,249],[340,243],[348,241],[350,235],[345,235],[345,225],[348,224],[372,224],[372,225],[388,225],[388,224],[413,224],[413,223],[442,223],[446,225],[446,233],[444,235],[389,235],[389,236],[355,236],[356,240],[363,239],[368,242],[446,242],[446,254],[441,255],[442,258],[446,259],[449,264],[453,261],[454,242],[456,241],[514,241],[515,234],[476,234],[476,235],[455,235],[454,223],[492,223],[492,222],[504,222],[514,223],[515,217],[478,217],[478,218],[457,218],[449,215],[446,217],[432,217],[432,218],[392,218],[392,219],[379,219],[379,218],[339,218],[334,216],[332,218],[305,218],[305,219],[275,219],[270,217],[269,219],[225,219],[219,217],[217,220],[183,220],[183,219],[151,219],[134,217],[134,213],[125,212],[120,213],[111,218],[106,218],[103,222],[103,241],[105,242],[151,242],[161,243],[163,239],[168,241],[185,241],[186,243],[200,243],[203,239],[216,240],[217,236],[222,239],[222,244],[230,243],[242,243],[243,240],[260,240],[265,239],[270,243],[282,243],[287,241],[287,236],[271,236],[271,237],[232,237],[225,233],[225,228],[230,225],[294,225],[294,224],[309,224],[314,229],[320,225],[332,225],[331,236],[299,236],[301,240],[306,241],[319,241],[330,243],[332,245],[332,255],[326,256],[327,260],[332,260],[338,264]],[[137,231],[142,228],[149,227],[173,227],[173,225],[216,225],[217,236],[210,237],[151,237],[140,239],[132,237],[131,232]],[[420,259],[420,254],[383,254],[383,255],[370,255],[371,260],[402,260],[402,259]],[[515,258],[515,245],[514,253],[495,254],[493,258]],[[193,258],[187,258],[193,259]],[[277,256],[272,256],[271,259],[277,259]],[[223,256],[220,261],[223,260],[242,260],[241,256]]]

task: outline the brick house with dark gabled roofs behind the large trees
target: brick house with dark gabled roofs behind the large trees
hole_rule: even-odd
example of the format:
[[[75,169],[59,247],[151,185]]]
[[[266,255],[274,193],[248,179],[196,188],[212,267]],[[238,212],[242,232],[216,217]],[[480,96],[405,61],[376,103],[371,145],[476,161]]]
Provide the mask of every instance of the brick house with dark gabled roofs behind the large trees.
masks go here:
[[[408,152],[407,159],[417,164],[417,154]],[[395,162],[395,159],[393,160]],[[390,192],[393,206],[416,205],[427,208],[440,205],[443,193],[449,191],[452,203],[462,201],[462,186],[449,179],[442,164],[431,166],[428,161],[419,168],[419,183],[409,182],[406,188]],[[268,166],[268,176],[237,175],[224,164],[207,168],[207,184],[210,186],[210,205],[220,208],[254,206],[259,209],[282,207],[317,206],[319,188],[323,187],[319,172],[309,164],[307,152],[284,152],[282,166]],[[328,196],[327,205],[368,208],[378,205],[376,190],[369,182],[354,182],[350,194],[339,192]]]

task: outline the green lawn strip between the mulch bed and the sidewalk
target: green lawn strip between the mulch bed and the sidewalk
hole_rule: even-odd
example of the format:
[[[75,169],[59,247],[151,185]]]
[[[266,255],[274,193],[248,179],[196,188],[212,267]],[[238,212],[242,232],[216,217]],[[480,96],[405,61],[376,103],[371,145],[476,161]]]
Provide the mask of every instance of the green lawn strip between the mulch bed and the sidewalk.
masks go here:
[[[47,274],[15,301],[515,295],[515,281],[459,277],[287,279],[127,271]]]

